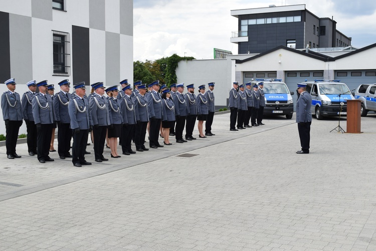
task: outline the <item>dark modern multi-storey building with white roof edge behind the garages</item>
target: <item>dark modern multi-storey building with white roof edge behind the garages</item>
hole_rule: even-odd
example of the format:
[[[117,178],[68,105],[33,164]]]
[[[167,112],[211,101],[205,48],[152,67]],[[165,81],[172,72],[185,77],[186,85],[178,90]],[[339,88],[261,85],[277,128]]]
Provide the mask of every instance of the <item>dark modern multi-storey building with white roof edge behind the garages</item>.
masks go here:
[[[233,10],[238,18],[238,31],[232,32],[232,43],[238,54],[263,53],[278,46],[292,49],[351,46],[351,38],[336,30],[336,22],[319,18],[305,5]]]

